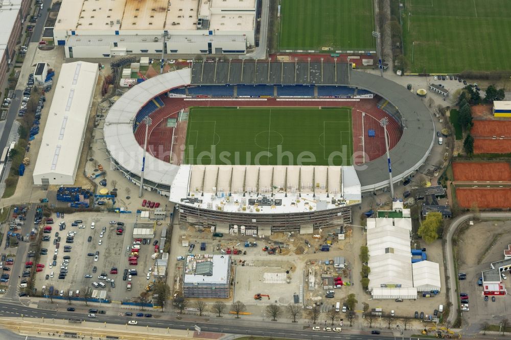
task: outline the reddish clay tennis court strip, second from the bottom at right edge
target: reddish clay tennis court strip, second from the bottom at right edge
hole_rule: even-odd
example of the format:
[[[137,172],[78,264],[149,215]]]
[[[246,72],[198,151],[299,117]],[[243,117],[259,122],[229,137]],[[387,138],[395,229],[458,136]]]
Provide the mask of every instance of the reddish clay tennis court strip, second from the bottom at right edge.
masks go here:
[[[511,168],[504,162],[455,162],[452,171],[455,181],[511,181]]]

